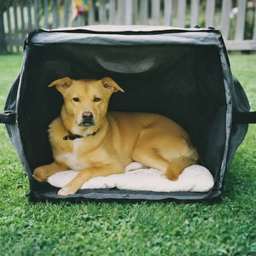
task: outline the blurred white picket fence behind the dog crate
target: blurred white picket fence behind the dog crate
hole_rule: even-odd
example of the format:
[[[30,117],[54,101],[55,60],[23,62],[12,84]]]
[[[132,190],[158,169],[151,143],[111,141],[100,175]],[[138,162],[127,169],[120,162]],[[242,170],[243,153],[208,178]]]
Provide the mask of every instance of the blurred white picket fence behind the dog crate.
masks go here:
[[[3,25],[9,51],[20,50],[26,33],[39,27],[94,24],[216,27],[227,49],[256,50],[255,0],[88,0],[84,15],[76,15],[74,0],[6,1]]]

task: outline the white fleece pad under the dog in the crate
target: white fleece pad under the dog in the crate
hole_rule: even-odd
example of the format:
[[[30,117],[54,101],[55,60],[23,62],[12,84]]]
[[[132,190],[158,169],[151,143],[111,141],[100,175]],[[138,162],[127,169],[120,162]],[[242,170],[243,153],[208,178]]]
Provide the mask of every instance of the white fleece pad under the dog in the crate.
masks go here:
[[[143,169],[140,163],[133,162],[126,166],[125,173],[108,177],[93,177],[83,184],[81,189],[128,189],[154,192],[207,192],[214,181],[211,172],[203,166],[189,166],[184,169],[177,181],[170,181],[163,172],[149,168]],[[135,170],[136,169],[136,170]],[[57,172],[48,178],[48,183],[57,188],[64,187],[78,171]]]

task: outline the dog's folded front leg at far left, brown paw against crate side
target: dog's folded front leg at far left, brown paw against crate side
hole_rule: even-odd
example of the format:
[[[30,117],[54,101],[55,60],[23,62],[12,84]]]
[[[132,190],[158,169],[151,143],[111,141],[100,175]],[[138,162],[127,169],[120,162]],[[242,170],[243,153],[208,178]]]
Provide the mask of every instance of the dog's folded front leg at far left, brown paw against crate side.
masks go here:
[[[67,166],[58,162],[53,162],[49,165],[39,166],[38,168],[36,168],[34,170],[33,177],[39,182],[44,182],[49,176],[55,174],[56,172],[63,172],[67,170]]]

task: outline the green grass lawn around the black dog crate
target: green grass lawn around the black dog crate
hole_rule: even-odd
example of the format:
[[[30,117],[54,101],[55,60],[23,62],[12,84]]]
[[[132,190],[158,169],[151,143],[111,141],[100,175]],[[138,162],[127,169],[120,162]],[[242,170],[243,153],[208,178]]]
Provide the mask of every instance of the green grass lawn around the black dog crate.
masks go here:
[[[255,110],[256,55],[230,55]],[[20,55],[0,56],[0,110]],[[32,204],[28,180],[0,125],[0,255],[255,255],[256,132],[249,126],[218,203],[61,201]]]

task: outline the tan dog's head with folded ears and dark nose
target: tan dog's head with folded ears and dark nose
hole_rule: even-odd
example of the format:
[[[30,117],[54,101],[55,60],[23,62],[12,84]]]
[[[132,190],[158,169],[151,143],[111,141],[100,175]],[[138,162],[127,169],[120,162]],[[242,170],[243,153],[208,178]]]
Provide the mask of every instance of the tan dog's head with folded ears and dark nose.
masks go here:
[[[79,127],[90,127],[104,119],[110,96],[118,90],[119,84],[110,78],[101,80],[69,78],[57,79],[49,87],[56,86],[64,99],[63,108],[67,118],[73,119]]]

